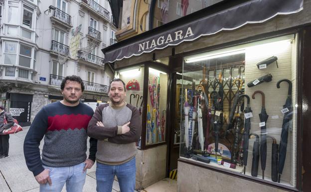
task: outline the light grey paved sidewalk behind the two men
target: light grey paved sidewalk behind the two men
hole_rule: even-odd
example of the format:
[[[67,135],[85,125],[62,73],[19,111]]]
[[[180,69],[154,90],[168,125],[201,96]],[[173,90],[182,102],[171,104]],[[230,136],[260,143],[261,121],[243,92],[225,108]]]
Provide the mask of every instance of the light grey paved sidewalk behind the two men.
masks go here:
[[[0,160],[0,192],[39,192],[39,184],[32,173],[28,171],[23,154],[23,142],[28,129],[29,127],[23,127],[22,132],[10,135],[10,158]],[[40,151],[42,151],[42,147],[43,140],[39,147]],[[96,192],[95,170],[96,163],[92,169],[87,170],[83,192]],[[64,187],[62,192],[66,192],[65,189]],[[112,192],[120,192],[117,181],[114,181]]]

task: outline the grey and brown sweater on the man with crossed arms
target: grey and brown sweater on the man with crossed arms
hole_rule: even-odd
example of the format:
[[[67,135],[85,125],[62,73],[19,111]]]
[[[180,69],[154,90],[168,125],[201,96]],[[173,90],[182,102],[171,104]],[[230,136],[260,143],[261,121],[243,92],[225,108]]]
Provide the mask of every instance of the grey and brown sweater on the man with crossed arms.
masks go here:
[[[96,125],[101,121],[104,127]],[[130,131],[121,134],[121,126],[131,122]],[[136,141],[142,131],[139,111],[124,103],[121,107],[103,104],[97,107],[88,126],[88,135],[97,142],[96,161],[107,165],[121,165],[130,161],[137,153]]]

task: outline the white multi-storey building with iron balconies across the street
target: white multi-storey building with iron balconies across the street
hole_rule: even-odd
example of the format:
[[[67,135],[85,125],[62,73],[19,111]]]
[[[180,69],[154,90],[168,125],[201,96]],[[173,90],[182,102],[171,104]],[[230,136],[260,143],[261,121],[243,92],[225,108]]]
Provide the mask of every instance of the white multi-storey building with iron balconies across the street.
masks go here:
[[[0,104],[21,124],[61,100],[67,75],[85,82],[83,101],[107,101],[113,69],[102,48],[115,39],[108,0],[0,0]],[[16,114],[16,113],[15,113]]]

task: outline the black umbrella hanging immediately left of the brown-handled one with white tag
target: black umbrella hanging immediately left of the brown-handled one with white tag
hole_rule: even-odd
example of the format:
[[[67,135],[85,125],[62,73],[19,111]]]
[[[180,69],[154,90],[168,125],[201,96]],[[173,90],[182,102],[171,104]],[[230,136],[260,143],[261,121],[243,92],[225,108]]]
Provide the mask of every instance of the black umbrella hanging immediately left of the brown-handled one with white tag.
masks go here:
[[[251,107],[250,107],[250,98],[248,95],[242,94],[239,96],[239,98],[246,97],[247,99],[247,106],[244,109],[244,117],[245,114],[251,113]],[[245,175],[245,168],[247,166],[247,157],[248,157],[248,143],[249,143],[249,132],[251,130],[251,118],[246,118],[244,120],[244,132],[243,132],[243,165],[244,165],[244,175]]]

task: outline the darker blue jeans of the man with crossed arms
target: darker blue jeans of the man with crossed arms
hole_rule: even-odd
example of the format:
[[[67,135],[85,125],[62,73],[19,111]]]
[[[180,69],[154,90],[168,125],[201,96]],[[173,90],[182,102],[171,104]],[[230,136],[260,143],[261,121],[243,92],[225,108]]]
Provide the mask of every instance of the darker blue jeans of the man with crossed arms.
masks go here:
[[[121,192],[134,192],[136,183],[136,159],[127,163],[111,166],[96,163],[96,191],[111,192],[115,176],[119,181]]]

